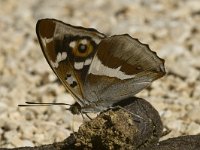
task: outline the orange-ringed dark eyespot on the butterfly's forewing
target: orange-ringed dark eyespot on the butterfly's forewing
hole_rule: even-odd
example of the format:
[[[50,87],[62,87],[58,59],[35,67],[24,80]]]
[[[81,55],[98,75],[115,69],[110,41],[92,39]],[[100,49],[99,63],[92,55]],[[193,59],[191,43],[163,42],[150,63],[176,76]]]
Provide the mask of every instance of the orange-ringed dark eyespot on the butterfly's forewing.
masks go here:
[[[93,51],[93,45],[90,41],[83,39],[76,41],[72,47],[72,53],[76,57],[87,57]]]

